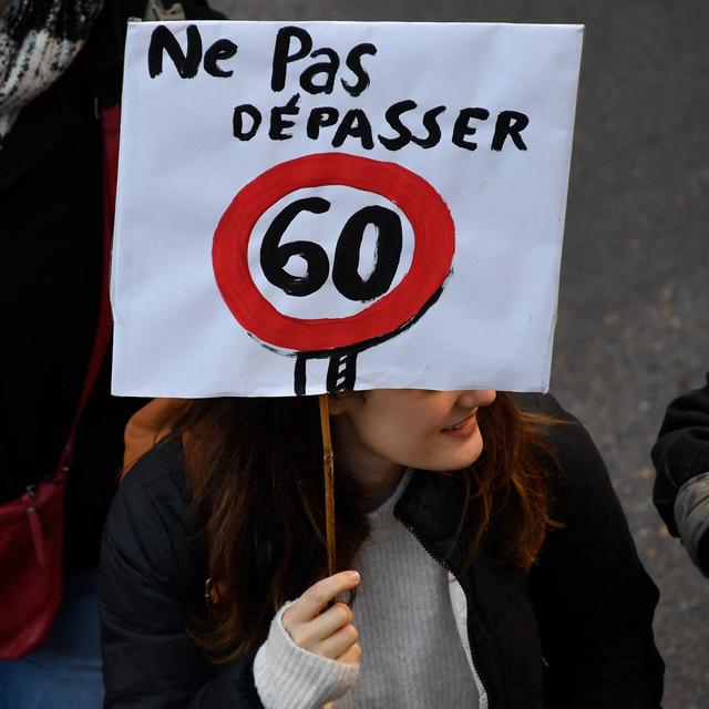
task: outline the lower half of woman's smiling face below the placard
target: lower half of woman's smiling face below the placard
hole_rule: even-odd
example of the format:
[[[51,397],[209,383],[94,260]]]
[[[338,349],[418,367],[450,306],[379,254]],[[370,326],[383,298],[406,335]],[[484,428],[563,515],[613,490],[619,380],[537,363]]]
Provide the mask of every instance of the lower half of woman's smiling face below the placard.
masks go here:
[[[494,400],[491,389],[374,389],[333,398],[336,454],[351,473],[466,467],[483,450],[477,410]]]

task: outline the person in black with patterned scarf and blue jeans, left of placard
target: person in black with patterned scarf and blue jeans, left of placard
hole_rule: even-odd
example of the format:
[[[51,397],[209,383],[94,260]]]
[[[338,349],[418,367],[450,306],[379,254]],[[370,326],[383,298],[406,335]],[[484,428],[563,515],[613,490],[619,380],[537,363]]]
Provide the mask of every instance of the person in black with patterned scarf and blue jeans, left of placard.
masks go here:
[[[220,17],[199,0],[0,0],[0,503],[52,472],[68,438],[103,287],[100,115],[120,100],[127,19],[163,11]],[[8,709],[102,702],[99,548],[123,430],[144,403],[112,398],[109,356],[75,441],[64,605],[43,646],[0,661]]]

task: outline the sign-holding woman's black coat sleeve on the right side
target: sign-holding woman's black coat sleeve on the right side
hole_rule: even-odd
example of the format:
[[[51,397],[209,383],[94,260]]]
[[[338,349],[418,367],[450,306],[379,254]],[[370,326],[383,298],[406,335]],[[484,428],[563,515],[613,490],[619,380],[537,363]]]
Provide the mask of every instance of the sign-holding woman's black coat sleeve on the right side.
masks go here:
[[[606,466],[586,430],[546,397],[561,470],[552,530],[530,574],[547,709],[657,709],[658,592],[643,568]],[[551,408],[549,408],[551,402]]]

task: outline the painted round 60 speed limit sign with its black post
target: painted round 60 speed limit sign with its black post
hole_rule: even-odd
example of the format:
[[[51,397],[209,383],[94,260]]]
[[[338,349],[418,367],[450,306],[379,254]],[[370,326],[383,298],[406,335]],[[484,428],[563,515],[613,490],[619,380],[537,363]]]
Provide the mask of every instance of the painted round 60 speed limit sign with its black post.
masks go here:
[[[380,195],[384,204],[356,208],[332,235],[335,249],[328,256],[316,240],[289,238],[289,227],[304,215],[325,218],[333,209],[323,196],[299,196],[299,191],[337,185]],[[294,317],[261,292],[254,263],[249,267],[249,244],[257,223],[277,203],[280,208],[250,247],[257,249],[256,268],[265,281],[292,298],[317,297],[331,284],[338,299],[361,309],[345,317]],[[413,253],[395,282],[403,255],[399,210],[411,225]],[[372,263],[362,264],[364,235],[372,229]],[[304,394],[311,358],[329,358],[329,392],[353,389],[357,354],[411,327],[438,300],[454,250],[451,213],[425,179],[394,163],[321,153],[275,165],[240,189],[216,228],[212,258],[222,297],[242,327],[265,347],[296,357],[294,389]],[[302,260],[297,271],[294,257]],[[331,302],[328,298],[320,307]]]

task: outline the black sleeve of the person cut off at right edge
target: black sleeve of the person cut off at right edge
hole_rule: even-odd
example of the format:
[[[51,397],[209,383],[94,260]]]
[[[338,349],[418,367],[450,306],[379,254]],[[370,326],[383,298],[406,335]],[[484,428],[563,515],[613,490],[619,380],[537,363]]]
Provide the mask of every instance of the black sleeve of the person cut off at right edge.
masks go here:
[[[678,536],[677,491],[709,471],[709,374],[706,387],[669,404],[651,454],[656,470],[653,501],[670,533]]]

